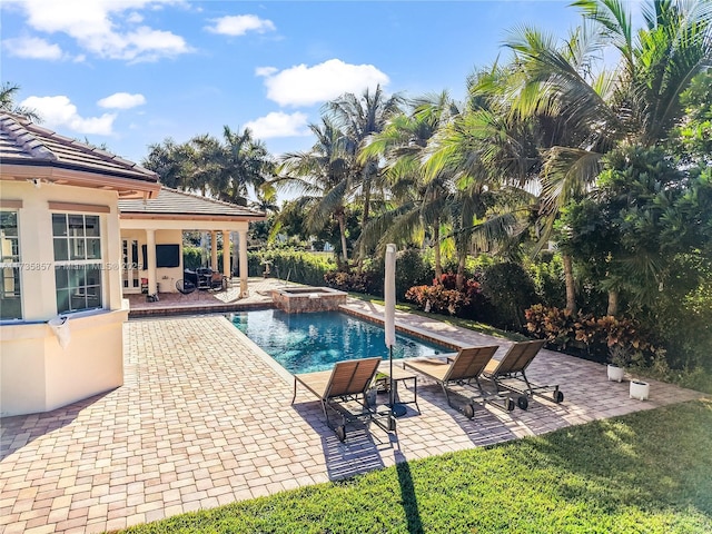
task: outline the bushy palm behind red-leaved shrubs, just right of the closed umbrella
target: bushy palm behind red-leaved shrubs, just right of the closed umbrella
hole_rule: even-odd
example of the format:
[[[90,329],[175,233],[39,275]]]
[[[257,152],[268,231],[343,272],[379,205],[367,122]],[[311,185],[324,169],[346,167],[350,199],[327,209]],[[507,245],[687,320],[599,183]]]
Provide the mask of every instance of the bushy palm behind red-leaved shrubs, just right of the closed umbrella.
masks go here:
[[[426,176],[448,172],[455,185],[452,208],[457,250],[457,287],[473,246],[487,250],[522,235],[531,195],[521,186],[536,167],[531,121],[510,112],[498,87],[511,76],[496,63],[468,79],[468,101],[433,137]],[[503,202],[504,200],[504,202]]]

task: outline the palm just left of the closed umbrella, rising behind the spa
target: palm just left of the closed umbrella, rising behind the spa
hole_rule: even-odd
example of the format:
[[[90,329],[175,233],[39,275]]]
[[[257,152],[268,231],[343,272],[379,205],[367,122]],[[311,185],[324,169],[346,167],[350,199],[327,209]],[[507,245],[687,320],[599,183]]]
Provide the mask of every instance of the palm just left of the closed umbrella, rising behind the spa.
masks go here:
[[[342,259],[347,266],[346,214],[352,189],[352,152],[345,146],[346,137],[330,119],[323,117],[322,125],[309,125],[309,129],[316,136],[312,149],[283,155],[278,176],[271,184],[278,189],[290,188],[301,194],[295,202],[306,212],[304,222],[307,231],[318,233],[329,220],[336,219]]]

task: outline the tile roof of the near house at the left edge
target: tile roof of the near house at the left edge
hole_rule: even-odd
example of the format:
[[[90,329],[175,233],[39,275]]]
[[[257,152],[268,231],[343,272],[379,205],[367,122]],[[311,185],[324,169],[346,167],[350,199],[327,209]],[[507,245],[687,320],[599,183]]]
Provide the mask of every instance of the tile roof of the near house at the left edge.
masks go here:
[[[0,111],[0,161],[6,165],[52,167],[95,175],[157,182],[154,171],[39,127],[28,119]]]

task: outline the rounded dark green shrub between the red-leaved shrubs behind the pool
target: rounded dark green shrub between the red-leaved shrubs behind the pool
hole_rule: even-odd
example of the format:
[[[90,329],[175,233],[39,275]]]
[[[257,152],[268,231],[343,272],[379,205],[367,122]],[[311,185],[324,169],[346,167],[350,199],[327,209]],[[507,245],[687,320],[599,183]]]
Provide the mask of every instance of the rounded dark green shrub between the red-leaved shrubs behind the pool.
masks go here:
[[[524,332],[524,310],[536,303],[536,290],[520,264],[502,263],[485,268],[482,293],[494,306],[493,323],[502,328]]]

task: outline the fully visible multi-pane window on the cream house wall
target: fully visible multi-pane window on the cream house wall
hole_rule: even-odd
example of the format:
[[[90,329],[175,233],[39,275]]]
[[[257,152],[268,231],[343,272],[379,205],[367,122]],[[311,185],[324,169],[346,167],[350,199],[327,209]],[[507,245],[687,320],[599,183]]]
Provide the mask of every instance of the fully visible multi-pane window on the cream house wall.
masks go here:
[[[101,308],[98,215],[52,214],[57,313]]]

